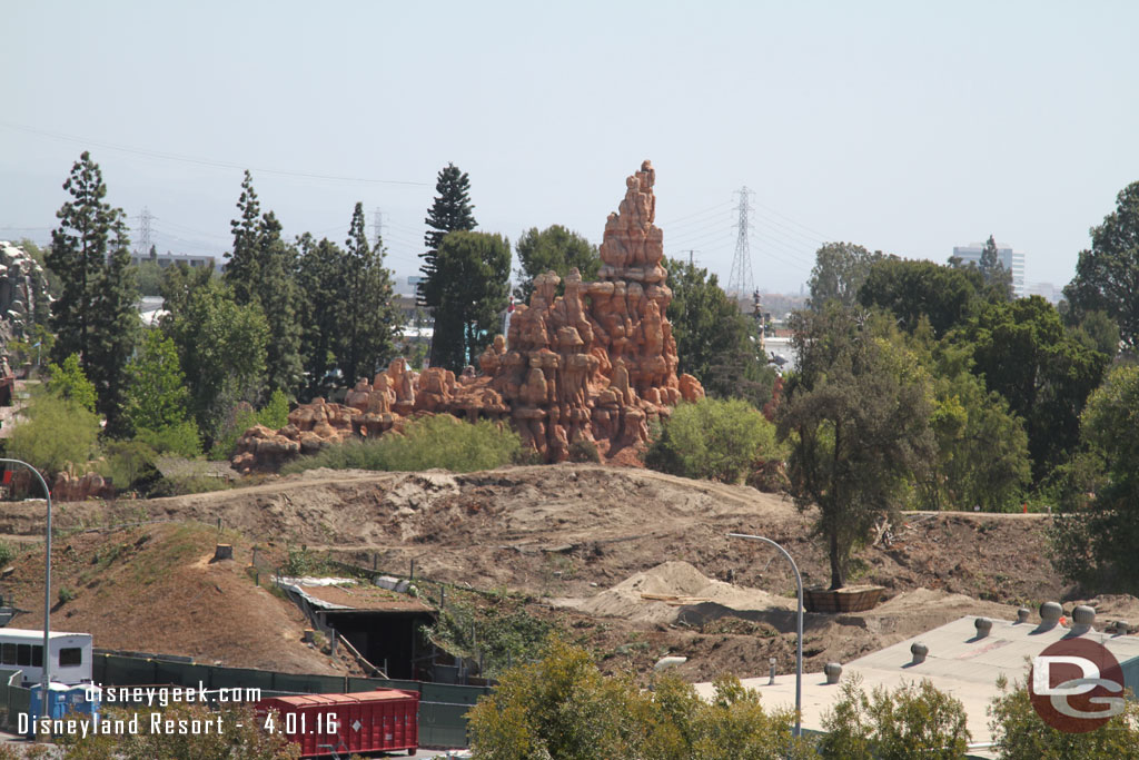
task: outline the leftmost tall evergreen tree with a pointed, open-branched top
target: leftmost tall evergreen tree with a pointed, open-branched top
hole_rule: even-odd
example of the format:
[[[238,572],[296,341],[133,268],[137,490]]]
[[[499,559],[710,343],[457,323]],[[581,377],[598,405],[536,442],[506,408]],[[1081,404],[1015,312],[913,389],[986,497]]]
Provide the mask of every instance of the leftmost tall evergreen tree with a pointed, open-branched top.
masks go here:
[[[123,211],[104,198],[107,186],[91,154],[83,152],[64,182],[72,199],[56,216],[47,264],[59,277],[59,299],[51,304],[58,362],[77,353],[98,395],[108,431],[121,419],[125,368],[138,337],[138,293],[130,267],[130,239]]]

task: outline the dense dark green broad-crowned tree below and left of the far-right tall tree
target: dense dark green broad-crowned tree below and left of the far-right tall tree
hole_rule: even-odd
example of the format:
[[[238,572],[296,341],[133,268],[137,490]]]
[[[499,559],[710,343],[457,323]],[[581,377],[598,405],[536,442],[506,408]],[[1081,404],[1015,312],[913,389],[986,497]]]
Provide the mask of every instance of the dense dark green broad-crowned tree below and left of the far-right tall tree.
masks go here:
[[[1068,335],[1039,295],[990,303],[952,340],[972,350],[973,371],[1024,419],[1033,479],[1041,482],[1075,450],[1080,412],[1108,358]]]

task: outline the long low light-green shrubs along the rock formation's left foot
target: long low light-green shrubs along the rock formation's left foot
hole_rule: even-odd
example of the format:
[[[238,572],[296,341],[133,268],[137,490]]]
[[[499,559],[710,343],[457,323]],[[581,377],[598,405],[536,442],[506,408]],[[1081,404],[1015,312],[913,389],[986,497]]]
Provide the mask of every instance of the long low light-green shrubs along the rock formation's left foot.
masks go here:
[[[331,446],[297,459],[281,472],[317,467],[416,472],[439,467],[468,473],[509,464],[521,450],[522,441],[509,427],[485,419],[470,424],[451,415],[435,415],[413,420],[402,435],[387,433],[372,441]]]

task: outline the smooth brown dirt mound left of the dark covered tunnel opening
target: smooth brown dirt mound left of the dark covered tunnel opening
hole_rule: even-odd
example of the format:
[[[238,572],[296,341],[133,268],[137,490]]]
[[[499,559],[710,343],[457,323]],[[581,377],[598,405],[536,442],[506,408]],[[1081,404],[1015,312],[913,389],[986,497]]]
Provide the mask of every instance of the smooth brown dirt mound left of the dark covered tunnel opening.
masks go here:
[[[57,539],[51,556],[55,630],[92,635],[109,649],[192,656],[207,664],[305,673],[344,665],[303,643],[296,606],[256,586],[248,542],[232,533],[238,561],[211,562],[219,536],[200,524],[133,528]],[[14,628],[43,627],[43,555],[13,562],[5,596],[24,610]],[[269,579],[261,578],[263,585]]]

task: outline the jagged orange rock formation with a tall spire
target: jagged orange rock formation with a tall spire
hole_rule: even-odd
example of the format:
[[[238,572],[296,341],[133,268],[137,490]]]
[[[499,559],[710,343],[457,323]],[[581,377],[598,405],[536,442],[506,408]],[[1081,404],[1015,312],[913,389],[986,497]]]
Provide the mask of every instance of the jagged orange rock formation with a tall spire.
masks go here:
[[[481,374],[468,367],[456,378],[433,367],[417,376],[396,359],[371,383],[361,378],[343,406],[318,399],[289,414],[277,433],[251,428],[238,441],[235,466],[272,467],[351,435],[379,435],[412,412],[508,418],[546,461],[568,458],[579,441],[608,456],[642,444],[650,420],[704,395],[695,377],[677,376],[655,179],[646,161],[625,180],[625,197],[605,223],[598,281],[583,283],[574,269],[565,294],[555,297],[560,278],[538,276],[505,340],[495,337],[480,357]]]

